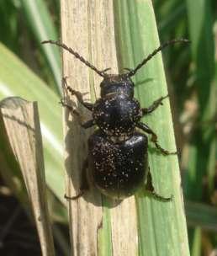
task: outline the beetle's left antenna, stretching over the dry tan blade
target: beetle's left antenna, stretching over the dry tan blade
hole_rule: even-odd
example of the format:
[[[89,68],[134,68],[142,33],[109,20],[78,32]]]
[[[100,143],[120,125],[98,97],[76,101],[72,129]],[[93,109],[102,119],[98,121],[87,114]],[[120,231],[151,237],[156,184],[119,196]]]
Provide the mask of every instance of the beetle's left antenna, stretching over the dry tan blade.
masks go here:
[[[71,47],[68,47],[65,44],[62,44],[59,41],[55,40],[45,40],[42,41],[41,44],[52,44],[52,45],[58,45],[61,48],[65,49],[66,51],[69,51],[73,56],[75,56],[78,60],[82,61],[87,67],[90,67],[93,71],[97,72],[99,76],[105,77],[106,74],[100,70],[98,70],[97,67],[94,67],[93,64],[91,64],[89,61],[86,61],[82,56],[80,56],[76,51],[72,50]]]

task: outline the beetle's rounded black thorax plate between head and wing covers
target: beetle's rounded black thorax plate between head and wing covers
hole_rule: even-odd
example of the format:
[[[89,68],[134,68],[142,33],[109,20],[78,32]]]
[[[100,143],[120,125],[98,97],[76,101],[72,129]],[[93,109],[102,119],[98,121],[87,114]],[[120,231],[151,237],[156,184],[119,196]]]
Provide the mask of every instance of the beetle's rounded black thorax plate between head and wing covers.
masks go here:
[[[108,136],[130,136],[142,116],[140,103],[124,93],[110,93],[93,108],[95,124]]]

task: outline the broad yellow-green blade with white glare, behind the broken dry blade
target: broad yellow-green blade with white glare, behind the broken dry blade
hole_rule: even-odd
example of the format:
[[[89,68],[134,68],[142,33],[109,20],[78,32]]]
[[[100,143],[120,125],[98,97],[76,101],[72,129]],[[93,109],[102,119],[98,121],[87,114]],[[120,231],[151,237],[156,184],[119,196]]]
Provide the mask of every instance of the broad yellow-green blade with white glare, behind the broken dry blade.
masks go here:
[[[1,44],[0,56],[0,99],[8,96],[19,96],[39,103],[46,182],[63,202],[61,106],[58,104],[60,99],[23,62],[19,61],[13,53]],[[9,166],[10,164],[8,162]]]

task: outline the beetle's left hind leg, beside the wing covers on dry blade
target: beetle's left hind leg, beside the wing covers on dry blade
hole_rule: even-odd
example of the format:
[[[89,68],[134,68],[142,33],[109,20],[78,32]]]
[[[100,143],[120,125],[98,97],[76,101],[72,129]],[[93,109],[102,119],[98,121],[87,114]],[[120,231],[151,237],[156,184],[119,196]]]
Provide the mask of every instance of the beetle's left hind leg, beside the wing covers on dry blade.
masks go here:
[[[64,195],[66,200],[77,200],[79,197],[84,195],[84,193],[87,192],[87,190],[89,189],[89,185],[87,182],[87,168],[88,168],[88,160],[86,159],[82,165],[82,184],[79,189],[79,192],[75,196]]]

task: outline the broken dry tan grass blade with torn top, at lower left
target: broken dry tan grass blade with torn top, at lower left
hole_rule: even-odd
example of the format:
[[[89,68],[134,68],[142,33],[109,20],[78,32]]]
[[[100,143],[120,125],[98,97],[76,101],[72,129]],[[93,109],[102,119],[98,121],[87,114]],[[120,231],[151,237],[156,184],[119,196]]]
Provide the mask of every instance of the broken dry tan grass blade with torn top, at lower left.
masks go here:
[[[37,104],[20,98],[1,102],[1,126],[24,177],[42,254],[55,255],[45,191],[45,168]]]

